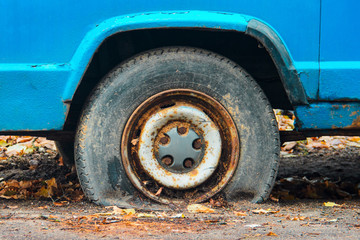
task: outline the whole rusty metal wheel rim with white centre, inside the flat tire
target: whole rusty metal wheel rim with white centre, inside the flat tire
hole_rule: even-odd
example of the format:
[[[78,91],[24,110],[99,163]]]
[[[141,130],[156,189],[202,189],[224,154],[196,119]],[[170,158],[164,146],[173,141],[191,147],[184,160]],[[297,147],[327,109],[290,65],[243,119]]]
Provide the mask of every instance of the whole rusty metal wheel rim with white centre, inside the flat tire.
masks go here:
[[[165,120],[161,120],[162,116]],[[151,125],[152,122],[161,123]],[[211,127],[204,128],[201,122],[207,122]],[[156,130],[150,128],[148,131],[148,126],[155,126]],[[206,135],[208,130],[211,137]],[[185,158],[186,154],[175,150],[175,157],[166,154],[166,151],[176,149],[166,147],[174,139],[182,139],[187,145],[191,142],[193,150],[187,148],[186,152],[194,157]],[[215,144],[212,143],[214,139]],[[220,144],[220,150],[211,158],[213,155],[207,154],[212,153],[210,149],[216,148],[216,144]],[[148,98],[133,112],[122,134],[121,155],[128,178],[150,199],[164,204],[202,202],[220,192],[231,179],[238,164],[239,145],[236,126],[218,101],[198,91],[173,89]],[[209,158],[212,159],[210,163]],[[176,159],[181,159],[182,166]],[[148,162],[160,171],[149,168]],[[209,169],[212,170],[206,172],[201,166],[211,166]],[[169,174],[170,178],[166,178]],[[165,177],[161,180],[158,175]],[[205,177],[194,177],[199,175]],[[176,177],[186,178],[186,184],[177,185]],[[169,183],[169,179],[175,180]]]

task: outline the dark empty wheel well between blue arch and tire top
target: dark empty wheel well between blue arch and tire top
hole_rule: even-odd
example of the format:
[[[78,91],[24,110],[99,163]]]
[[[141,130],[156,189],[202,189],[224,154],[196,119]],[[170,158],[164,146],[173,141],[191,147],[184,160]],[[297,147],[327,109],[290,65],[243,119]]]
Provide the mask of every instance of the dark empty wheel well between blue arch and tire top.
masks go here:
[[[221,54],[242,66],[257,81],[273,108],[291,109],[277,69],[256,39],[235,31],[149,29],[118,33],[97,49],[76,93],[64,130],[76,129],[79,114],[95,85],[115,66],[140,52],[164,46],[189,46]]]

